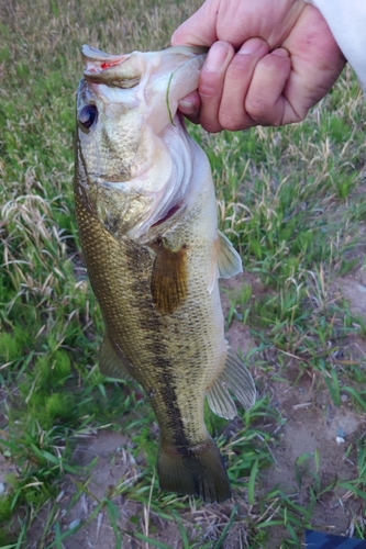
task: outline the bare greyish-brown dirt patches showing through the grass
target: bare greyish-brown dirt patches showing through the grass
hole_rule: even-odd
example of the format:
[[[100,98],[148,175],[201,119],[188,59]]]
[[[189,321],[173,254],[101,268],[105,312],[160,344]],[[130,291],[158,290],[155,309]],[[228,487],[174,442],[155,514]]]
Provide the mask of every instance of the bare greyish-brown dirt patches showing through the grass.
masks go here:
[[[260,282],[252,274],[244,273],[235,280],[228,281],[225,288],[235,290],[242,283],[251,283],[253,296],[255,299],[264,291]],[[366,316],[366,270],[361,269],[354,276],[346,276],[334,282],[334,291],[341,291],[350,301],[354,313]],[[229,300],[225,293],[222,295],[224,313],[229,310]],[[241,349],[244,354],[255,346],[248,328],[241,322],[233,321],[228,330],[228,339],[233,349]],[[357,360],[365,366],[366,344],[362,339],[353,338],[346,341],[343,349],[345,356]],[[269,357],[270,359],[270,357]],[[347,394],[342,394],[342,405],[334,406],[331,396],[325,388],[320,388],[314,382],[314,377],[303,376],[300,380],[291,379],[291,365],[288,365],[287,377],[284,381],[267,379],[263,391],[269,392],[271,406],[276,407],[284,419],[277,438],[278,445],[273,448],[275,464],[262,473],[260,491],[279,485],[287,494],[297,494],[297,502],[306,505],[309,498],[309,484],[312,481],[311,473],[315,472],[315,461],[307,460],[301,469],[301,486],[299,486],[296,473],[296,460],[309,452],[319,452],[320,463],[318,475],[323,486],[329,485],[332,480],[339,478],[352,479],[357,475],[355,456],[345,457],[347,442],[354,437],[366,432],[365,414],[356,414]],[[295,382],[296,381],[296,382]],[[260,384],[259,383],[259,384]],[[87,548],[115,548],[115,535],[106,508],[97,509],[98,502],[109,496],[111,489],[121,482],[133,482],[138,472],[141,463],[136,463],[129,451],[129,438],[110,430],[101,430],[90,438],[80,440],[75,449],[75,463],[88,466],[96,460],[97,463],[90,473],[82,479],[65,477],[57,497],[57,516],[66,531],[80,522],[92,518],[87,527],[68,537],[63,544],[65,549],[87,549]],[[0,458],[0,489],[5,490],[4,477],[10,472],[16,472],[14,466],[9,464]],[[87,492],[79,497],[77,483],[88,482]],[[149,514],[146,506],[125,500],[123,496],[114,498],[114,504],[119,508],[120,518],[117,524],[125,534],[123,535],[124,548],[145,548],[146,544],[133,539],[127,533],[132,533],[135,519],[140,519],[142,530],[146,536],[153,528],[154,537],[168,547],[180,549],[182,547],[181,536],[177,526],[168,520],[163,520],[154,514]],[[351,502],[351,500],[350,500]],[[337,490],[329,492],[321,497],[313,511],[312,525],[315,529],[331,531],[333,534],[345,535],[352,533],[353,517],[362,514],[363,509],[357,508],[354,503],[347,500],[346,491]],[[222,530],[222,525],[228,522],[228,517],[234,506],[234,502],[226,502],[223,505],[207,504],[199,511],[193,511],[187,500],[187,513],[184,514],[184,526],[188,531],[195,531],[195,525],[202,527],[204,541],[217,539]],[[239,512],[245,517],[249,513],[246,502],[235,501],[240,504]],[[192,512],[193,511],[193,512]],[[49,509],[45,508],[37,515],[37,518],[27,533],[29,549],[47,547],[47,537],[43,538],[40,545],[42,533],[45,528],[45,520]],[[149,520],[148,520],[149,515]],[[132,520],[131,520],[132,518]],[[275,531],[270,536],[264,549],[278,549],[280,539],[285,533]],[[49,541],[54,539],[54,533],[49,531]],[[202,538],[203,540],[203,538]],[[245,526],[235,523],[231,528],[223,546],[224,549],[240,549],[246,547]]]

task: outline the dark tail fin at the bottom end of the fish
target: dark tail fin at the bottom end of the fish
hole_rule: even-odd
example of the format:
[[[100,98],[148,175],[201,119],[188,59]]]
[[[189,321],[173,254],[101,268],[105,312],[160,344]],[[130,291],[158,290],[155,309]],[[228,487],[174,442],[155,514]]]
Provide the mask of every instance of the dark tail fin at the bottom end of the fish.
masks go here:
[[[162,446],[157,470],[162,490],[198,495],[211,503],[231,497],[225,466],[212,438],[193,448]]]

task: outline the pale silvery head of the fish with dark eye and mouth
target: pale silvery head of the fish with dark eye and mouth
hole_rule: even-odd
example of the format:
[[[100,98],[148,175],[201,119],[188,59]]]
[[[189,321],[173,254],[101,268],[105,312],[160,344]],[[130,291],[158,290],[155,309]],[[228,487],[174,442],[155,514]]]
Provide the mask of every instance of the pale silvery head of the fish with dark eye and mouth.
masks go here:
[[[181,201],[168,142],[185,132],[178,101],[198,88],[206,51],[110,55],[82,47],[76,180],[114,234],[140,235]]]

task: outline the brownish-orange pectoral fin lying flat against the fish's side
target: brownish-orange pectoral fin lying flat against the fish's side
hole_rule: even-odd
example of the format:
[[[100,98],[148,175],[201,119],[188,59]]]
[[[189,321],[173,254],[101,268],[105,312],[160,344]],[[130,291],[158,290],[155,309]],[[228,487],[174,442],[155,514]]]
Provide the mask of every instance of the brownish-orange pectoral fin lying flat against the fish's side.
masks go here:
[[[171,251],[160,244],[152,274],[152,295],[162,314],[173,314],[188,293],[187,247]]]

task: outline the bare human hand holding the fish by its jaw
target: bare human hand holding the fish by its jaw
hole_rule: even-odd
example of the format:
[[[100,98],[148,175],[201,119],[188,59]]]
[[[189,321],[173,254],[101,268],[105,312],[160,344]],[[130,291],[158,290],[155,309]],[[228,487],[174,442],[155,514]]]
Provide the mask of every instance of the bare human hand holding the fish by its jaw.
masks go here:
[[[211,46],[198,93],[179,104],[208,132],[300,122],[345,63],[320,11],[303,0],[206,0],[171,44]]]

